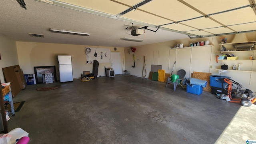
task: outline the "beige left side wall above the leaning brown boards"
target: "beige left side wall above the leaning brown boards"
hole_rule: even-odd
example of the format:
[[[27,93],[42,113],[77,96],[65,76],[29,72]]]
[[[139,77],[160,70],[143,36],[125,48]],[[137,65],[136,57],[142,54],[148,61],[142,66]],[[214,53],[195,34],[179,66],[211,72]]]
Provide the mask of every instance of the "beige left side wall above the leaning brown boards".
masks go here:
[[[10,38],[6,38],[0,34],[0,80],[4,81],[4,74],[2,68],[8,66],[15,66],[19,64],[18,54],[16,49],[16,42]]]

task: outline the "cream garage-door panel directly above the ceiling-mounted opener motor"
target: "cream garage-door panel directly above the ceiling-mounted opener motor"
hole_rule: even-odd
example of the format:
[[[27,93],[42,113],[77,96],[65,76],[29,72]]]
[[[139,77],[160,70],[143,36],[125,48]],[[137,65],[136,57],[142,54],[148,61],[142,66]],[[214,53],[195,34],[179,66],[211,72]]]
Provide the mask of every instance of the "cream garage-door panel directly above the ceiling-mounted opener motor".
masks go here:
[[[173,21],[166,20],[164,18],[160,18],[158,16],[154,16],[152,14],[148,14],[146,12],[142,12],[140,10],[132,10],[120,17],[128,18],[131,20],[137,20],[140,22],[145,22],[147,24],[154,24],[156,26],[162,25],[162,24],[168,24],[172,23]]]

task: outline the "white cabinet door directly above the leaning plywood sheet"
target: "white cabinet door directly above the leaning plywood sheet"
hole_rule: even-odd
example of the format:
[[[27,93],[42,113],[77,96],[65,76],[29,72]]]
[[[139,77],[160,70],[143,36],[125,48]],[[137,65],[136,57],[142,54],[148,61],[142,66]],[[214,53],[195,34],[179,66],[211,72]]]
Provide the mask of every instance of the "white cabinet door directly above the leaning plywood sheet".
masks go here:
[[[202,46],[192,48],[191,73],[210,72],[212,46]]]

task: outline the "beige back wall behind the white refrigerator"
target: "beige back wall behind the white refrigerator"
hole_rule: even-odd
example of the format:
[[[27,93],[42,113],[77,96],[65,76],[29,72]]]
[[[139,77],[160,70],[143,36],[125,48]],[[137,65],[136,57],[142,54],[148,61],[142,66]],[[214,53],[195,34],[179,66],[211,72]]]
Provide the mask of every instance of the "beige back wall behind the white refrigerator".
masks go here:
[[[90,71],[92,73],[93,64],[86,64],[86,54],[84,52],[85,47],[98,48],[99,46],[83,46],[72,44],[52,44],[52,43],[37,43],[37,42],[16,42],[18,51],[18,60],[20,68],[22,68],[24,74],[34,74],[34,66],[56,66],[58,72],[58,55],[71,55],[72,56],[72,68],[73,78],[80,78],[83,71]],[[114,51],[114,47],[109,48],[110,51]],[[117,51],[121,54],[121,71],[123,67],[124,48],[117,48]],[[110,63],[100,63],[98,68],[98,76],[106,76],[105,69],[109,68]],[[57,80],[59,80],[59,74],[57,73]]]

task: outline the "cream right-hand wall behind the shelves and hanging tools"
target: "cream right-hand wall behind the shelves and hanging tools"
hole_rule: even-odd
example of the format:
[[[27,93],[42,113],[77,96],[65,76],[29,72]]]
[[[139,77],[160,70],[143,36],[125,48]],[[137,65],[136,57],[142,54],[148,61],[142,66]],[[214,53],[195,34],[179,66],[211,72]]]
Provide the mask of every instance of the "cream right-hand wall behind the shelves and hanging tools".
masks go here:
[[[250,90],[253,90],[256,92],[256,72],[232,72],[229,71],[229,73],[222,73],[219,74],[218,70],[220,66],[222,65],[221,62],[216,62],[216,55],[221,55],[218,53],[220,51],[220,45],[219,45],[219,40],[220,38],[227,38],[227,43],[231,42],[233,40],[235,35],[226,35],[226,36],[214,36],[214,37],[207,37],[207,38],[196,38],[196,39],[182,39],[182,40],[172,40],[168,42],[161,42],[161,43],[156,43],[156,44],[148,44],[148,45],[142,45],[142,46],[134,46],[136,48],[136,52],[133,53],[130,50],[130,54],[128,54],[128,49],[130,47],[125,48],[125,64],[126,64],[126,70],[130,71],[131,75],[142,77],[142,68],[144,65],[144,58],[143,56],[146,56],[146,70],[147,70],[147,76],[148,78],[150,69],[151,69],[151,64],[156,64],[156,65],[162,65],[162,69],[165,70],[166,73],[171,73],[172,68],[174,66],[174,62],[176,61],[176,50],[171,49],[173,48],[176,44],[183,43],[184,47],[188,47],[190,43],[192,42],[199,42],[199,41],[206,41],[210,40],[210,44],[212,45],[212,50],[211,54],[209,56],[210,59],[210,64],[209,61],[206,60],[207,57],[204,57],[203,55],[205,54],[204,51],[198,51],[197,54],[193,53],[194,57],[202,58],[202,60],[198,60],[198,66],[207,66],[207,68],[200,68],[199,72],[210,72],[212,75],[222,75],[222,76],[230,76],[231,79],[234,81],[238,82],[241,84],[243,87],[248,88]],[[256,32],[252,33],[246,33],[246,36],[248,38],[248,41],[256,41]],[[196,47],[195,47],[196,48]],[[185,51],[186,48],[184,48]],[[188,49],[188,48],[187,48]],[[193,48],[192,48],[193,50]],[[232,50],[232,49],[231,49]],[[181,50],[182,51],[182,50]],[[188,51],[187,51],[188,52]],[[189,56],[187,52],[184,52],[184,59],[186,56]],[[133,63],[133,56],[135,55],[135,68],[132,68],[134,66]],[[256,54],[256,53],[255,53]],[[180,52],[179,55],[177,55],[179,58],[182,57],[182,52]],[[249,55],[250,56],[250,55]],[[249,58],[248,56],[248,58]],[[256,55],[254,55],[256,58]],[[193,61],[193,59],[191,59]],[[235,61],[238,66],[238,62]],[[188,66],[189,61],[180,62],[180,64],[176,64],[176,67],[174,68],[174,73],[176,73],[180,68],[186,69]],[[235,63],[234,63],[235,64]],[[230,67],[233,64],[229,64]],[[245,64],[243,63],[242,68],[245,67],[251,67],[250,64]],[[255,62],[254,65],[252,66],[253,68],[255,67]],[[189,68],[187,68],[189,69]],[[204,71],[202,71],[204,70]],[[255,68],[254,68],[255,70]],[[191,73],[193,73],[193,68],[192,71],[187,71],[186,77],[191,76]],[[256,71],[256,70],[255,70]]]

